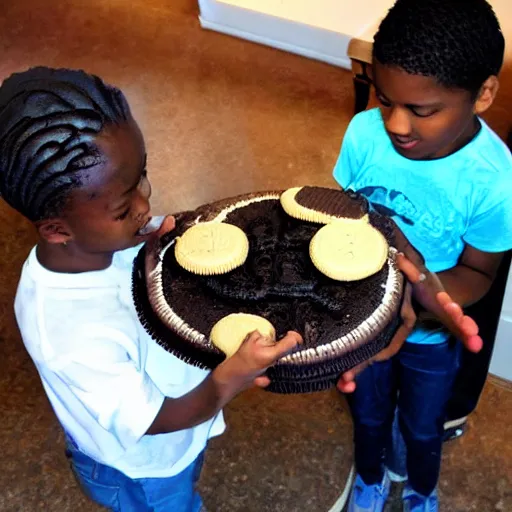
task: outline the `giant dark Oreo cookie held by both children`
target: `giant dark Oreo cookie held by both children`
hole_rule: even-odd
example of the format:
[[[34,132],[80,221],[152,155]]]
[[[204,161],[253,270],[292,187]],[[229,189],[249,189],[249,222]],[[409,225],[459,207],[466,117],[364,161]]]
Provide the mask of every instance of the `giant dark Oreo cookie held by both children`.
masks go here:
[[[322,192],[328,198],[323,205]],[[278,337],[298,331],[304,344],[268,370],[268,389],[322,390],[388,345],[398,324],[403,278],[390,251],[382,269],[366,279],[329,279],[309,257],[309,244],[321,224],[292,218],[280,196],[249,194],[179,216],[175,231],[158,245],[143,248],[137,257],[135,304],[142,323],[164,348],[204,368],[214,368],[224,359],[209,335],[232,313],[266,318]],[[368,214],[366,201],[359,196],[304,187],[296,200],[333,218],[365,219],[390,246],[394,244],[386,219]],[[245,263],[216,276],[181,268],[174,255],[176,238],[201,222],[226,222],[242,229],[249,240]]]

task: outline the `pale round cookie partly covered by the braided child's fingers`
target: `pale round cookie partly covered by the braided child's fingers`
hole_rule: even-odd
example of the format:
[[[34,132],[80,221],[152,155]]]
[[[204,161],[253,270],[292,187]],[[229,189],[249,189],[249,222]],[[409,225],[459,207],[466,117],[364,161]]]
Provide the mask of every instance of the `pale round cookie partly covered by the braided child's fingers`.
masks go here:
[[[253,331],[258,331],[262,336],[268,336],[273,340],[276,338],[274,326],[265,318],[246,313],[233,313],[213,326],[210,339],[226,357],[231,357]]]

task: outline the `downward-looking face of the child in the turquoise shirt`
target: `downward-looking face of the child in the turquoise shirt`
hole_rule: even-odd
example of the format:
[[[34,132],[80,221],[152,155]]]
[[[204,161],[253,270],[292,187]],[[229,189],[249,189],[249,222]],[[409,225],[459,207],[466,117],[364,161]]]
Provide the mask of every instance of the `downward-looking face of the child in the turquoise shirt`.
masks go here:
[[[379,62],[373,64],[373,81],[388,135],[406,158],[447,156],[477,130],[469,91],[448,89],[431,77]]]

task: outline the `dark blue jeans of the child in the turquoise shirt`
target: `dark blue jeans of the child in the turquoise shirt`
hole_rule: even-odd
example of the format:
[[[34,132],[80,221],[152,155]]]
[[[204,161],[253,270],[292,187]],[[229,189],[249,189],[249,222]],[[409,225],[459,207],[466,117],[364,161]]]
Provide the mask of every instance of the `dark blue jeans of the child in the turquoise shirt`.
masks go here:
[[[355,463],[368,485],[383,477],[392,450],[395,408],[407,447],[409,485],[424,496],[436,487],[441,466],[446,405],[457,374],[460,344],[405,343],[388,361],[375,363],[357,378],[348,396],[354,422]],[[389,455],[389,454],[388,454]]]

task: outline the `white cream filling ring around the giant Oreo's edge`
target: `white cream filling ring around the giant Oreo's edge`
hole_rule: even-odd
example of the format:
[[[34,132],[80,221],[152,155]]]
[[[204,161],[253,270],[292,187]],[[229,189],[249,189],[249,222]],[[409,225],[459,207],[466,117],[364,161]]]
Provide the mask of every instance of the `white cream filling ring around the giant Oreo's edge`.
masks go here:
[[[217,214],[209,222],[223,222],[227,216],[233,211],[248,206],[252,203],[261,201],[279,199],[279,194],[266,194],[251,199],[244,199],[233,205],[224,208],[219,214]],[[200,222],[198,217],[195,223]],[[186,339],[189,342],[208,346],[211,350],[218,352],[218,350],[212,345],[209,336],[206,336],[199,331],[195,330],[189,324],[185,322],[175,311],[167,304],[163,289],[162,279],[162,265],[166,252],[174,245],[175,240],[169,242],[160,252],[158,263],[155,269],[148,276],[148,296],[151,306],[155,310],[159,318],[170,327],[179,336]],[[388,276],[386,283],[383,284],[385,287],[384,297],[382,298],[381,304],[377,309],[355,329],[345,334],[344,336],[337,338],[330,343],[325,343],[317,347],[311,347],[308,349],[298,350],[293,354],[289,354],[279,360],[278,364],[311,364],[324,361],[332,358],[334,355],[340,356],[355,350],[367,343],[368,339],[373,337],[377,332],[381,332],[384,327],[390,322],[396,311],[393,309],[393,303],[397,303],[397,299],[402,291],[403,278],[398,271],[394,255],[396,249],[390,248],[390,255],[388,258]]]

